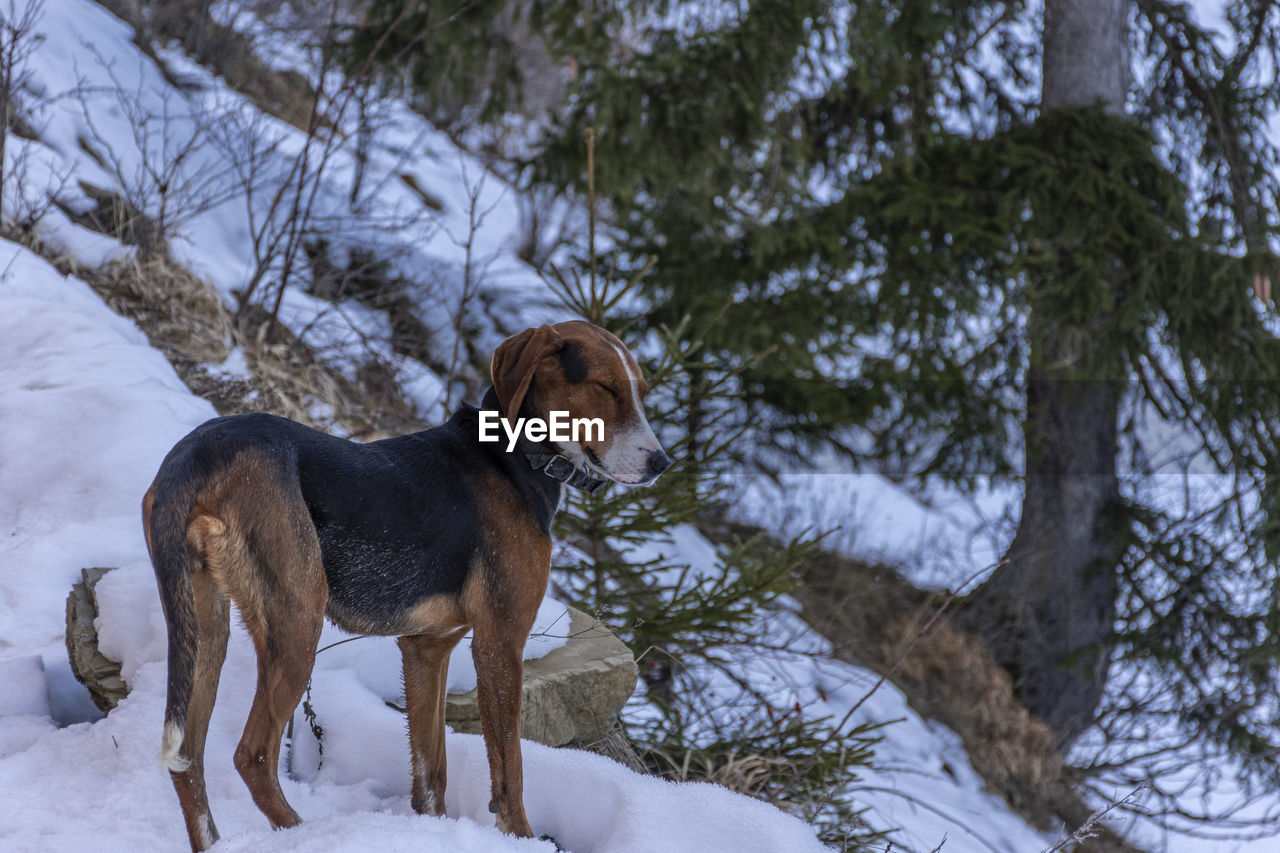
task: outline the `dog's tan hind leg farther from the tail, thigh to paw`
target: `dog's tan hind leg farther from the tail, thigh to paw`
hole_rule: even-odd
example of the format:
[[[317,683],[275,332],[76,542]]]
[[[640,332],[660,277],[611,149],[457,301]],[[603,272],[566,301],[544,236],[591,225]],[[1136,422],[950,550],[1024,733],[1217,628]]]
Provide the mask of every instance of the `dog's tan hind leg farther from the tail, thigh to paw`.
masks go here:
[[[236,748],[236,768],[271,826],[280,829],[300,822],[280,790],[280,736],[311,678],[328,585],[302,496],[285,487],[271,498],[266,507],[246,502],[238,514],[247,523],[252,581],[236,599],[257,651],[257,693]]]

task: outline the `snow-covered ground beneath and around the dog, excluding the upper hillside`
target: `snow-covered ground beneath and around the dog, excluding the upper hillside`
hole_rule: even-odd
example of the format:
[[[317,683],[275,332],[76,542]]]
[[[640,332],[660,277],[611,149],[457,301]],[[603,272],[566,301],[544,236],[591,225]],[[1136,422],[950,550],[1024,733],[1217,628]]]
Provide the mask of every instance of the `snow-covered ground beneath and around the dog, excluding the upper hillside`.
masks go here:
[[[183,827],[168,775],[155,760],[164,704],[164,621],[145,558],[138,496],[159,460],[189,428],[214,415],[125,319],[82,282],[0,243],[0,813],[5,849],[178,849]],[[654,543],[662,548],[663,543]],[[681,529],[671,547],[707,560],[710,547]],[[119,565],[99,585],[102,648],[124,662],[131,695],[100,719],[70,678],[63,646],[67,592],[82,566]],[[554,619],[554,610],[547,616]],[[550,631],[554,634],[554,630]],[[801,634],[803,635],[803,634]],[[809,643],[819,643],[809,635]],[[460,820],[410,818],[404,724],[384,699],[398,692],[387,640],[320,656],[312,703],[324,726],[314,740],[296,720],[297,753],[285,792],[308,818],[273,834],[230,763],[248,703],[253,657],[237,630],[210,735],[210,794],[229,849],[532,849],[497,834],[488,813],[488,768],[477,736],[449,736],[447,808]],[[778,702],[804,701],[844,715],[874,679],[865,671],[795,654],[760,663]],[[782,667],[782,669],[778,669]],[[453,681],[468,689],[466,656]],[[777,676],[782,675],[782,679]],[[791,685],[805,685],[797,698]],[[826,699],[819,701],[818,693]],[[817,707],[824,702],[826,707]],[[956,738],[916,717],[883,686],[861,721],[884,729],[881,766],[859,802],[873,822],[901,827],[900,844],[931,849],[941,838],[966,850],[1033,850],[1046,839],[982,792]],[[803,850],[812,833],[777,809],[709,785],[637,776],[604,758],[526,744],[531,820],[571,850]],[[348,820],[349,817],[349,820]],[[424,829],[422,825],[428,826]],[[438,848],[430,847],[436,843]]]

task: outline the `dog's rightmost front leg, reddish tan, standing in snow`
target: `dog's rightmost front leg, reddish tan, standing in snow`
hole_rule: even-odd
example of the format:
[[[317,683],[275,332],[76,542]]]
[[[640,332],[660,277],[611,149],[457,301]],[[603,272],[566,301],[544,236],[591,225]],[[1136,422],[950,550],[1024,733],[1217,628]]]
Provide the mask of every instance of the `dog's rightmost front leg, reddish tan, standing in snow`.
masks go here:
[[[493,799],[489,811],[498,829],[532,836],[525,816],[524,766],[520,756],[520,707],[524,698],[524,649],[527,625],[476,625],[471,656],[476,665],[480,726],[489,753]]]

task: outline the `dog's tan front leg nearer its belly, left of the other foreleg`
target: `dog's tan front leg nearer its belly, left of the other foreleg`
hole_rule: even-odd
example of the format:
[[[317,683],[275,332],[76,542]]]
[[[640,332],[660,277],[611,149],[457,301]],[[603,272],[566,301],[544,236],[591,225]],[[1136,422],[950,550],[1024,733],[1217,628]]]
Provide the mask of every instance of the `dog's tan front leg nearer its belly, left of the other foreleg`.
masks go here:
[[[404,706],[413,772],[413,811],[444,815],[444,697],[449,680],[449,653],[466,631],[445,637],[401,637],[404,663]]]

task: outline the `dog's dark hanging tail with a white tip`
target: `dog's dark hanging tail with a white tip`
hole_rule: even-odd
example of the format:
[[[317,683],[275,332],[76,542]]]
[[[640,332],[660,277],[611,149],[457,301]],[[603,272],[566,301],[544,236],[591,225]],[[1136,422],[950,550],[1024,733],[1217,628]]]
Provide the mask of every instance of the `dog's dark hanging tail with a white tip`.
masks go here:
[[[191,583],[192,560],[187,551],[187,520],[195,506],[195,491],[179,485],[182,478],[165,476],[169,460],[165,460],[156,482],[142,500],[142,524],[169,626],[169,693],[160,761],[172,772],[180,774],[189,765],[180,749],[200,634]]]

